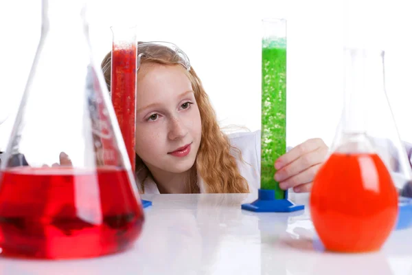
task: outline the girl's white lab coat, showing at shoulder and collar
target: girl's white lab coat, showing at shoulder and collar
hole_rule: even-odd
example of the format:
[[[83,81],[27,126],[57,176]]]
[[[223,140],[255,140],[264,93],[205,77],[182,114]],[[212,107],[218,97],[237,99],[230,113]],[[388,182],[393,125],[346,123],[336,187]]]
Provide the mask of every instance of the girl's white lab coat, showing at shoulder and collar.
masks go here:
[[[231,133],[228,135],[232,146],[242,152],[242,159],[238,159],[237,154],[233,154],[238,162],[240,175],[247,180],[249,191],[258,192],[260,188],[260,131]],[[198,176],[198,185],[201,192],[205,192],[203,179]],[[144,181],[145,194],[159,194],[159,189],[152,177]]]

